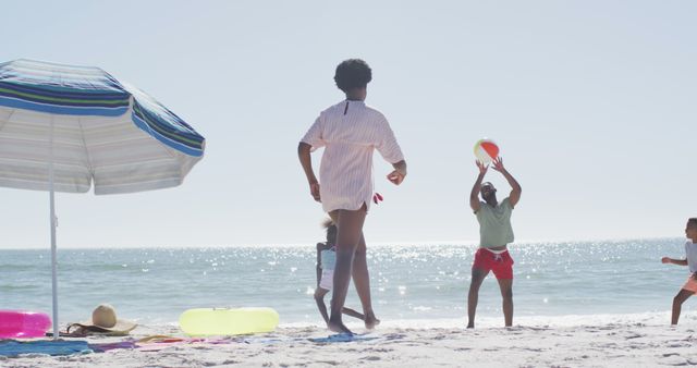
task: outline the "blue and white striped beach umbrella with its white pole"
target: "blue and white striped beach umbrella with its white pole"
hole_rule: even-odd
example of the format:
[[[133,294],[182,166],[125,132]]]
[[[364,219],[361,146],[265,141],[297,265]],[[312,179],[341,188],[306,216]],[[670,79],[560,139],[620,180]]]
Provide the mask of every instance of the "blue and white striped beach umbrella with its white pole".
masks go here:
[[[182,184],[205,139],[142,90],[98,68],[0,63],[0,186],[49,192],[58,338],[54,192],[96,195]]]

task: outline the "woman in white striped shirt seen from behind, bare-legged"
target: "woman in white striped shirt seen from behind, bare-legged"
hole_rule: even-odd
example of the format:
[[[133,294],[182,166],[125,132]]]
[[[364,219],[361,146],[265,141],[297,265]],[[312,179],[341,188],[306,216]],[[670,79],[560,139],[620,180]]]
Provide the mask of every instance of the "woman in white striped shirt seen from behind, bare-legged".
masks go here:
[[[387,119],[365,105],[367,85],[372,78],[368,64],[359,59],[337,66],[334,82],[346,99],[319,114],[297,147],[297,155],[309,183],[309,191],[339,228],[337,265],[329,329],[351,331],[343,324],[341,311],[353,275],[367,329],[379,320],[372,311],[370,278],[366,260],[363,224],[372,197],[372,152],[392,163],[387,179],[400,185],[406,176],[406,162]],[[320,182],[313,170],[310,151],[325,147],[319,169]]]

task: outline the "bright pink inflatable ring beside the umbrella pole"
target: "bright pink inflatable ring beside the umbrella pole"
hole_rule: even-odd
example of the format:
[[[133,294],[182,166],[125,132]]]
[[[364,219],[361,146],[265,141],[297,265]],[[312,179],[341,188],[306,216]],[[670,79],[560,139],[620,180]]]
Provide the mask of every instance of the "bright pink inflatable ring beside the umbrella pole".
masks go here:
[[[0,339],[44,338],[51,328],[47,314],[26,310],[0,310]]]

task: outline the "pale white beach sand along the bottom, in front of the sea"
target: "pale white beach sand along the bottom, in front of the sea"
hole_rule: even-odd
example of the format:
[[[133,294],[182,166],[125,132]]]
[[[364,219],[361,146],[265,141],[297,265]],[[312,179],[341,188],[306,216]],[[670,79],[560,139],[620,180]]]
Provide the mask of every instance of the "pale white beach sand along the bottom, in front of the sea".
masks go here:
[[[665,315],[668,317],[668,315]],[[628,320],[625,320],[628,319]],[[274,333],[229,338],[224,344],[176,343],[158,352],[114,349],[50,357],[0,357],[8,367],[656,367],[697,365],[697,321],[677,327],[615,318],[602,324],[545,326],[541,319],[511,329],[382,326],[374,340],[316,343],[320,327],[284,327]],[[565,319],[570,321],[570,319]],[[457,324],[464,322],[458,320]],[[560,323],[557,323],[560,324]],[[462,326],[462,324],[460,324]],[[139,327],[133,338],[179,335],[176,327]],[[89,338],[90,343],[122,338]]]

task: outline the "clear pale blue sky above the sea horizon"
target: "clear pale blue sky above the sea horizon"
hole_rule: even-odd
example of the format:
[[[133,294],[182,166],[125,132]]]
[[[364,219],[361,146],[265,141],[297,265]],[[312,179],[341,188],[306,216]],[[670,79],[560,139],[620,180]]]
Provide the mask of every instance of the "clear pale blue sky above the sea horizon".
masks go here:
[[[472,151],[496,139],[519,241],[681,236],[697,216],[694,1],[4,1],[0,60],[100,66],[207,138],[176,188],[58,194],[59,247],[320,241],[296,156],[365,59],[404,184],[375,156],[368,243],[469,243]],[[314,155],[316,169],[320,152]],[[489,180],[508,193],[503,177]],[[0,188],[0,248],[48,247],[48,194]]]

